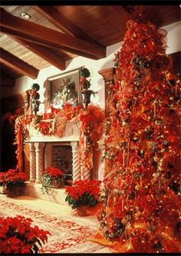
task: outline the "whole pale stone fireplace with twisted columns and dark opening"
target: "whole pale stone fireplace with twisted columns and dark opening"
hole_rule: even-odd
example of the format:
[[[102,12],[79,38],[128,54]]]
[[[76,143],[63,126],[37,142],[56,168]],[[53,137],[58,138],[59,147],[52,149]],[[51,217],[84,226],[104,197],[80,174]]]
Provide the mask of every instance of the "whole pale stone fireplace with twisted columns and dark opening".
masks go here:
[[[28,140],[30,148],[30,181],[41,184],[48,166],[60,168],[65,182],[81,180],[79,135],[77,125],[67,122],[64,136],[44,136],[35,131]]]

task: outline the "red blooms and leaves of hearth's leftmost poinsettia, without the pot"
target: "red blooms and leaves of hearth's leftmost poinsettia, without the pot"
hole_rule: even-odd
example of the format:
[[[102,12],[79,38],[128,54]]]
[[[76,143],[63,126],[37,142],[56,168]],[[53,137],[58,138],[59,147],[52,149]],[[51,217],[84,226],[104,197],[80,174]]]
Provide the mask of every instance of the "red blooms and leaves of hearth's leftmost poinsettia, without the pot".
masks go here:
[[[11,189],[25,185],[28,176],[25,172],[18,171],[16,169],[8,169],[8,171],[0,173],[0,186],[6,186]]]

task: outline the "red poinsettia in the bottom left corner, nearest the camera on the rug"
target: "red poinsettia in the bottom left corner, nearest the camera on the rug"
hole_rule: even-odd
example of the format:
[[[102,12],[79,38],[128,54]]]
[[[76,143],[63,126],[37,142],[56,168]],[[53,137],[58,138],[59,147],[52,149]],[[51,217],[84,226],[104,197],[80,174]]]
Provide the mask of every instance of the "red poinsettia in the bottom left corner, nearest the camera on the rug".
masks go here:
[[[49,231],[38,226],[31,227],[31,218],[21,215],[15,218],[0,217],[0,253],[1,254],[38,254],[42,243],[48,241]]]

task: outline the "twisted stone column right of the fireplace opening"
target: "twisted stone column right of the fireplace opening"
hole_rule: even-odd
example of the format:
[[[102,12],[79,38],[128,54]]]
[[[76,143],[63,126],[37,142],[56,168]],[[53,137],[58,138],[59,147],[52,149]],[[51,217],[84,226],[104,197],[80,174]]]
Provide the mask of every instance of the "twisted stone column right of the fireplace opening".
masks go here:
[[[80,166],[80,155],[78,148],[78,141],[71,142],[72,155],[73,155],[73,182],[81,180],[81,166]]]

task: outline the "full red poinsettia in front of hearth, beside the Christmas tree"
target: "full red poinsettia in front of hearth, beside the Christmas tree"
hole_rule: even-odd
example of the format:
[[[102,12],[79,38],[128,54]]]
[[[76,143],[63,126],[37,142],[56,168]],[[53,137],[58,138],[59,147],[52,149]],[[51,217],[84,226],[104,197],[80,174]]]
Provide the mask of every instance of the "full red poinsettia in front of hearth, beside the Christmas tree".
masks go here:
[[[65,201],[71,205],[72,209],[79,208],[81,205],[94,208],[99,202],[100,183],[101,181],[95,180],[75,181],[72,186],[66,188]]]

